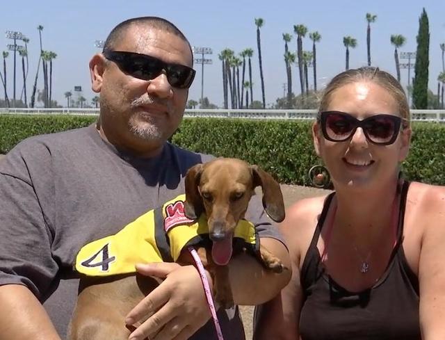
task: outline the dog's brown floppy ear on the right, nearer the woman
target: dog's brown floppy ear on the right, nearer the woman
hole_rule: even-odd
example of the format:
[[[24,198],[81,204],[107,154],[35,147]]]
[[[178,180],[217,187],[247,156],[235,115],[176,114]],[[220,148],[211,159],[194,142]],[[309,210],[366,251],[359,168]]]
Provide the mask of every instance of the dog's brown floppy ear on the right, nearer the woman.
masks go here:
[[[264,210],[275,222],[281,222],[284,220],[285,212],[280,184],[258,165],[252,165],[250,168],[252,169],[254,187],[261,186],[263,189]]]

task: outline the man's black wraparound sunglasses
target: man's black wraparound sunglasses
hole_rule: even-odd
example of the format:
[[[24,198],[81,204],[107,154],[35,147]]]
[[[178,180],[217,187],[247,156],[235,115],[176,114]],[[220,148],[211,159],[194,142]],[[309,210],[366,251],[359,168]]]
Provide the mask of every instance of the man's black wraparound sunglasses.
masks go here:
[[[152,80],[165,71],[168,83],[175,88],[190,88],[195,70],[186,65],[165,63],[158,58],[124,51],[104,51],[105,58],[114,61],[125,73],[138,79]]]

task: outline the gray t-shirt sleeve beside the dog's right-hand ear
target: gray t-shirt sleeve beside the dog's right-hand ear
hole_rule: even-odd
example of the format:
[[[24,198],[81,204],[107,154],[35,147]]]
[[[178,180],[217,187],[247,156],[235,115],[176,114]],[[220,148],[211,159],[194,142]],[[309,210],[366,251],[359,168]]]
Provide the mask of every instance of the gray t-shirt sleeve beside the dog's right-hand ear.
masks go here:
[[[245,213],[245,219],[254,224],[260,238],[275,238],[276,240],[286,245],[286,243],[284,243],[282,235],[277,228],[276,223],[271,220],[264,211],[260,195],[252,196],[248,210]]]

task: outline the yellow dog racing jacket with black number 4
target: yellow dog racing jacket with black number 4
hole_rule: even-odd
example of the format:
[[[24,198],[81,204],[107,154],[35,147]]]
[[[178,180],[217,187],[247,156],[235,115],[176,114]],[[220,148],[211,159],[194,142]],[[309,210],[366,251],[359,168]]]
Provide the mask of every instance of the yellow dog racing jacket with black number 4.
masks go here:
[[[117,234],[84,245],[76,256],[75,270],[88,276],[134,273],[137,263],[176,261],[185,246],[209,244],[207,217],[202,214],[197,221],[186,218],[185,198],[179,195],[147,211]],[[254,225],[240,220],[234,243],[257,254],[258,240]]]

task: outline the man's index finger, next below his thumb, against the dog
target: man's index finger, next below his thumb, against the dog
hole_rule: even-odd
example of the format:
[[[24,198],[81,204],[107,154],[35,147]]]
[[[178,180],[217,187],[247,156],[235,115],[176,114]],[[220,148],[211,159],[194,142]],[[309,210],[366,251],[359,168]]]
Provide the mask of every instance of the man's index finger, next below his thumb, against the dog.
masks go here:
[[[163,286],[157,286],[151,293],[149,293],[142,301],[136,305],[127,317],[125,323],[127,325],[135,325],[145,320],[147,316],[160,309],[170,299],[170,294],[165,290]]]

